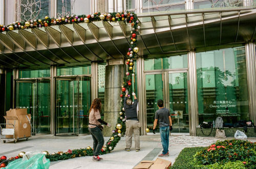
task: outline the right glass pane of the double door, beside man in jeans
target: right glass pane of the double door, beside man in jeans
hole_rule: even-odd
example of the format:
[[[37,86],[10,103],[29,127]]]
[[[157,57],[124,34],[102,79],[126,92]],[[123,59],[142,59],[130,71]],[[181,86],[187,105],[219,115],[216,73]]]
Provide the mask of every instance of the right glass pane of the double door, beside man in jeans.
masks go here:
[[[189,133],[187,73],[169,74],[169,107],[174,133]]]

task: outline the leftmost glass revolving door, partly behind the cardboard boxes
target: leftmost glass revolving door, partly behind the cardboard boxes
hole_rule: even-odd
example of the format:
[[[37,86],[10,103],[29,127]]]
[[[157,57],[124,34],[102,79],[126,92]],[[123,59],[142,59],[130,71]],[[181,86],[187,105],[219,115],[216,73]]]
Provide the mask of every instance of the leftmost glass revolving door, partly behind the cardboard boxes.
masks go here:
[[[31,114],[31,132],[50,132],[50,79],[16,79],[15,108]]]

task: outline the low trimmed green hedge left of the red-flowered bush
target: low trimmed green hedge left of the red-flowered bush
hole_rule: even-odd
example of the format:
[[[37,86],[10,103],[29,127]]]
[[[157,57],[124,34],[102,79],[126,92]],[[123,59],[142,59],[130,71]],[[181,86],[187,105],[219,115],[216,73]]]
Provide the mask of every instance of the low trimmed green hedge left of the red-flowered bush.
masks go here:
[[[184,148],[179,156],[175,159],[175,162],[173,164],[172,167],[170,167],[171,169],[176,169],[176,168],[191,168],[191,169],[196,169],[196,168],[200,168],[200,167],[196,167],[193,164],[193,156],[203,150],[204,147],[195,147],[195,148]]]

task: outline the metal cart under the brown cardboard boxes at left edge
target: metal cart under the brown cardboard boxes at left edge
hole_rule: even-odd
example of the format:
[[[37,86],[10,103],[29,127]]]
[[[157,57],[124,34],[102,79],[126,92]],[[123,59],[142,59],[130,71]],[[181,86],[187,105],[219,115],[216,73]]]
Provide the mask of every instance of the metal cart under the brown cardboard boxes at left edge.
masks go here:
[[[12,126],[12,128],[6,129],[6,128],[3,128],[2,125],[6,125],[6,126],[10,125],[10,126]],[[6,140],[9,140],[9,141],[13,140],[14,143],[16,143],[17,140],[19,140],[19,139],[23,139],[23,138],[26,138],[26,140],[29,139],[29,137],[15,138],[15,127],[13,124],[0,124],[0,128],[1,128],[0,140],[3,140],[4,143],[6,142]],[[4,135],[13,135],[13,138],[6,138],[6,136],[3,137]]]

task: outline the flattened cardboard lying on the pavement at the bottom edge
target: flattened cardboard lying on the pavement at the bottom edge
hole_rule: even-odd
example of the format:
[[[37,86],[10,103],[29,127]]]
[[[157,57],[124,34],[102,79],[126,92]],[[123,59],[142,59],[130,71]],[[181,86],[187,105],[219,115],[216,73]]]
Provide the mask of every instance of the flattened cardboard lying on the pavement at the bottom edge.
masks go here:
[[[143,160],[133,169],[167,169],[172,166],[172,162],[157,158],[156,161]]]

